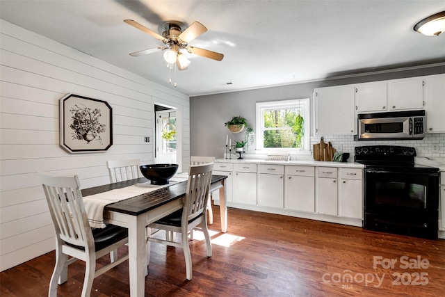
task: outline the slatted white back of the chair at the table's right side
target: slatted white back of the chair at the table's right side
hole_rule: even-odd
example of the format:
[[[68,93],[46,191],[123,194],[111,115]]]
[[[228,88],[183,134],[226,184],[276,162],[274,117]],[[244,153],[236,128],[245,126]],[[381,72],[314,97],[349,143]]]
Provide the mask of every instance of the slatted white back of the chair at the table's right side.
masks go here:
[[[200,216],[206,209],[212,170],[213,163],[190,166],[184,211],[182,212],[182,225],[188,225],[190,220]]]

